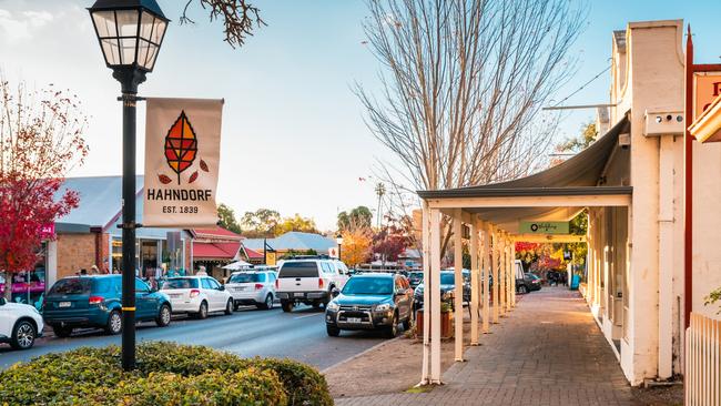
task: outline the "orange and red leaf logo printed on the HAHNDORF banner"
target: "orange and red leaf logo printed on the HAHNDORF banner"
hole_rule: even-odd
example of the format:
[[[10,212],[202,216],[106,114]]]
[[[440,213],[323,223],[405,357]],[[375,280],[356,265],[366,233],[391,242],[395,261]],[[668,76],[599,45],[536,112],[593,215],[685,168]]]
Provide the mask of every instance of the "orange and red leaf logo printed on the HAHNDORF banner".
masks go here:
[[[165,160],[173,172],[177,174],[177,184],[181,183],[181,173],[193,164],[196,153],[197,139],[195,138],[195,131],[187,120],[185,111],[181,111],[177,120],[167,130],[167,135],[165,136]],[[164,175],[159,176],[160,181],[165,183]],[[194,177],[197,177],[197,175]],[[195,181],[195,179],[192,181]]]

